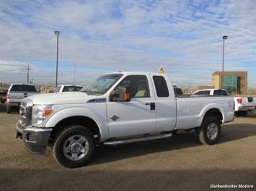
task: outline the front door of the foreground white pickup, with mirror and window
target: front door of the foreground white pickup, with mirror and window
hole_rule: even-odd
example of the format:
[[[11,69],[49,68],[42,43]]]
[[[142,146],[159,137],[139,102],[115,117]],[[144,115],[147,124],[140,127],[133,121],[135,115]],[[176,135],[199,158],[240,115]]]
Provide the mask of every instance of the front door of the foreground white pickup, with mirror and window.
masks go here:
[[[110,137],[149,134],[155,131],[155,98],[149,75],[125,77],[108,97],[107,124]]]

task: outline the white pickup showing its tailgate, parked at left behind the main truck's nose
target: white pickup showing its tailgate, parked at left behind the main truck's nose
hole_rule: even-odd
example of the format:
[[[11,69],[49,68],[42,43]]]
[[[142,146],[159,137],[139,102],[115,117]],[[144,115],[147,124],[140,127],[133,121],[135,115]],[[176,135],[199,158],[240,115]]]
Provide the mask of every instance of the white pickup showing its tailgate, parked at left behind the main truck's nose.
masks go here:
[[[23,98],[38,93],[37,88],[33,84],[13,83],[6,94],[6,113],[12,113],[12,107],[19,106]]]

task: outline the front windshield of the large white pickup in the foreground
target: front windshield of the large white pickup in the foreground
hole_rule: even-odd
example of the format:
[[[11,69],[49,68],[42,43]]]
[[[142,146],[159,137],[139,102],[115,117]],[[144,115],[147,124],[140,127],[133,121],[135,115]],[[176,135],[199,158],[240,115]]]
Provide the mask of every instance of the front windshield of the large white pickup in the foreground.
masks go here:
[[[114,85],[123,74],[107,74],[102,75],[87,87],[82,88],[80,91],[87,94],[102,95]]]

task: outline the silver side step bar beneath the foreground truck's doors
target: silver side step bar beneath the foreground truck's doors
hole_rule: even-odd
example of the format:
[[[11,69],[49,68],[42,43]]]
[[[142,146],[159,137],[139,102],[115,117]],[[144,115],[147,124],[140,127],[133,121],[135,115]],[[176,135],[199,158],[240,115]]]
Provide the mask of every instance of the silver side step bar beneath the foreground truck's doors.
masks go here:
[[[157,136],[148,136],[148,137],[142,137],[142,138],[136,138],[136,139],[126,139],[126,140],[117,140],[117,141],[105,141],[105,145],[119,145],[119,144],[129,144],[129,143],[135,143],[139,141],[149,141],[149,140],[154,140],[154,139],[162,139],[162,138],[168,138],[171,137],[172,134],[162,134],[162,135],[157,135]]]

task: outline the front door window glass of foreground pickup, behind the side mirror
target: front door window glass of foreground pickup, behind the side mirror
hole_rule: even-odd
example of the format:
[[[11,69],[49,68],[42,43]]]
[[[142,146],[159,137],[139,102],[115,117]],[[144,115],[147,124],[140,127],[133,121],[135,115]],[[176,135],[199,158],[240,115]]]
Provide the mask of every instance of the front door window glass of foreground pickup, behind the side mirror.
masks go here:
[[[125,93],[130,93],[131,98],[149,98],[149,83],[145,75],[130,75],[124,78],[115,88],[120,100]]]

